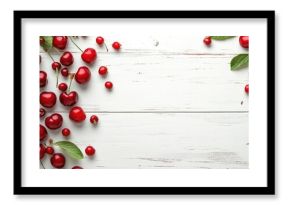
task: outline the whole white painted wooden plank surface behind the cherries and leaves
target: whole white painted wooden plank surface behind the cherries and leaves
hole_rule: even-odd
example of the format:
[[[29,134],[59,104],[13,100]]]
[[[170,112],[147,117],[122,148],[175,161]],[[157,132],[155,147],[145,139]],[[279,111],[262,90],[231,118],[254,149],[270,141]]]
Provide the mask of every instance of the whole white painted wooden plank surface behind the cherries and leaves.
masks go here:
[[[203,45],[203,36],[155,35],[141,39],[122,35],[120,52],[109,52],[95,44],[95,37],[78,38],[81,48],[98,52],[88,85],[73,83],[79,93],[78,105],[87,120],[76,125],[68,119],[68,108],[59,102],[49,113],[60,112],[64,126],[82,150],[96,148],[94,158],[74,161],[67,157],[65,168],[248,168],[248,69],[230,71],[230,59],[243,50],[237,38]],[[85,65],[80,52],[69,43],[75,58],[70,70]],[[59,94],[51,59],[41,51],[40,69],[48,73],[49,83],[41,90]],[[52,53],[55,59],[60,56]],[[109,75],[102,78],[98,67],[106,65]],[[104,88],[110,80],[114,89]],[[60,82],[68,82],[62,76]],[[97,126],[89,116],[100,118]],[[43,124],[43,121],[41,121]],[[61,130],[50,132],[63,140]],[[51,168],[48,156],[43,160]]]

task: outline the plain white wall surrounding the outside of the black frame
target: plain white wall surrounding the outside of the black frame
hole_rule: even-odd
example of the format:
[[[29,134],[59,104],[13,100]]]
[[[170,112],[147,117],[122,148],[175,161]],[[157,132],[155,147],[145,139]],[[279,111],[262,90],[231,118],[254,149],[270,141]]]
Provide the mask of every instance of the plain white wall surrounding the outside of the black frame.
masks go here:
[[[166,3],[165,3],[166,2]],[[196,1],[188,5],[188,1],[9,1],[1,5],[1,174],[0,196],[5,204],[79,204],[82,202],[99,204],[287,204],[290,201],[290,140],[289,140],[289,77],[287,66],[289,55],[288,38],[290,36],[287,1],[265,0],[243,2],[237,1]],[[41,7],[41,6],[45,7]],[[13,196],[13,10],[19,9],[192,9],[192,10],[248,10],[248,9],[275,9],[276,10],[276,196]],[[284,68],[281,66],[284,65]],[[270,82],[271,84],[271,82]],[[288,132],[288,133],[287,133]],[[289,202],[288,202],[289,203]]]

